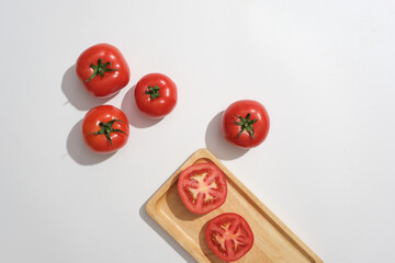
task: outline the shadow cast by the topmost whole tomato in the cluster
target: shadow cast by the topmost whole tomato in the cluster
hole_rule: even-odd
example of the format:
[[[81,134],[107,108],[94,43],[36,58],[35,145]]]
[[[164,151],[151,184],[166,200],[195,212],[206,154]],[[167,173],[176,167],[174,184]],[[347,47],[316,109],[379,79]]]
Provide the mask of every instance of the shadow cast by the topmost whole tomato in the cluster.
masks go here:
[[[61,79],[61,91],[66,95],[68,102],[79,111],[88,111],[108,102],[112,96],[99,99],[91,95],[76,73],[76,65],[69,67]]]

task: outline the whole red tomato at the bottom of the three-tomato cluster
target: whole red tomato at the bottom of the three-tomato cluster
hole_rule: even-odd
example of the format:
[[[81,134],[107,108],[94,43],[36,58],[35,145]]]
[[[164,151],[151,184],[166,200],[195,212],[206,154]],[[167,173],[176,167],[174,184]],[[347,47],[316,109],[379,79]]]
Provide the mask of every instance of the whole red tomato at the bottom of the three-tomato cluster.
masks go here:
[[[129,133],[125,114],[117,107],[101,105],[90,110],[82,122],[83,139],[95,152],[114,152],[127,141]]]

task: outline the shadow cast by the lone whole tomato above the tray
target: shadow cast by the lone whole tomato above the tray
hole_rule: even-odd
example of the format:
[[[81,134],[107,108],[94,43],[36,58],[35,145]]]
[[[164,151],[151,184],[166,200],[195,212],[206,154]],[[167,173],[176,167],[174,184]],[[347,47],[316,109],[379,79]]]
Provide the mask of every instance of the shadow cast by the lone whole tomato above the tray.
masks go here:
[[[222,116],[224,111],[217,113],[212,121],[210,121],[206,134],[206,148],[222,160],[237,159],[248,151],[248,149],[238,148],[229,144],[222,135]]]

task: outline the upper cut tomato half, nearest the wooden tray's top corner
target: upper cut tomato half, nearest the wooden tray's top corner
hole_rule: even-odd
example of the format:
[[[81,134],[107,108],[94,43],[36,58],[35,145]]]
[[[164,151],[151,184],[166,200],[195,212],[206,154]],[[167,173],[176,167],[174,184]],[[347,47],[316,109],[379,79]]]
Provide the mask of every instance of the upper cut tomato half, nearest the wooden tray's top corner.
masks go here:
[[[181,172],[178,191],[188,209],[206,214],[222,206],[226,199],[225,174],[213,163],[192,164]]]

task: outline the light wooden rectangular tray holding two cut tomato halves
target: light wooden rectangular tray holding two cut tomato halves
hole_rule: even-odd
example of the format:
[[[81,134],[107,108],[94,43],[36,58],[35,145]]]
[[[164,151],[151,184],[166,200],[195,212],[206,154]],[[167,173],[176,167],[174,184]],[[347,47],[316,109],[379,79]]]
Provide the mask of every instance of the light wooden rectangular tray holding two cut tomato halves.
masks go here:
[[[224,205],[205,215],[188,210],[177,190],[180,172],[199,162],[213,162],[227,175],[228,194]],[[236,262],[323,262],[206,149],[194,152],[147,202],[146,209],[199,262],[224,262],[207,247],[204,229],[210,219],[226,211],[242,215],[255,236],[252,249]]]

